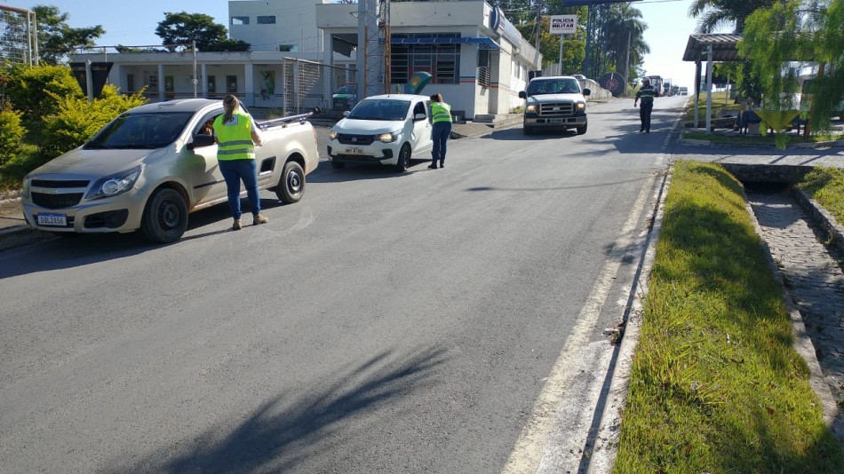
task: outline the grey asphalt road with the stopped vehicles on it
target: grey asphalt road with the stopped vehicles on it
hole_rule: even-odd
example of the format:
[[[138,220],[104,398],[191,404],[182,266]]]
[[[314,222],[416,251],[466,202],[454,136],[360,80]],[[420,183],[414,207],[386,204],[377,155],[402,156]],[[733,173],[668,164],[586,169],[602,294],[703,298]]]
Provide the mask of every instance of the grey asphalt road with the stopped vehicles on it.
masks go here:
[[[0,471],[577,469],[681,102],[0,253]]]

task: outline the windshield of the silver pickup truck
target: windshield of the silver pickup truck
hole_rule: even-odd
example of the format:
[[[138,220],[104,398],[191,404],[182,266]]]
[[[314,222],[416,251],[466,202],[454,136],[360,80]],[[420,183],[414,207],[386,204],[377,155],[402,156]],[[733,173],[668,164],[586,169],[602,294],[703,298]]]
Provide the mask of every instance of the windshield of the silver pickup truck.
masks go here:
[[[83,148],[156,149],[168,146],[185,130],[193,114],[123,114],[100,130]]]

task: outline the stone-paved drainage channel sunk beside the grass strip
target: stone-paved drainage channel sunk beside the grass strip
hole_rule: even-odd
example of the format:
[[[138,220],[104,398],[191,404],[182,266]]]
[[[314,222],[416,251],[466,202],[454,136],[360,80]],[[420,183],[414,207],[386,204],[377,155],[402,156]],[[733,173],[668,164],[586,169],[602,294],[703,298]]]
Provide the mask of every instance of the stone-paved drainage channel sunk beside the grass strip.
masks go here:
[[[811,167],[725,166],[744,184],[812,372],[824,418],[844,440],[844,238],[827,211],[792,184]]]

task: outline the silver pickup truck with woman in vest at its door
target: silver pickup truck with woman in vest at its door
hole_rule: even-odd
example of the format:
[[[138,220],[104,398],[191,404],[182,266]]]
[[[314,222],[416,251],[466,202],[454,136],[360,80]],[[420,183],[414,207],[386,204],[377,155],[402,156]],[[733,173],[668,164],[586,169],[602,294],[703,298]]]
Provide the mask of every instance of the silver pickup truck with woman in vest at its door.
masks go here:
[[[52,233],[140,229],[150,241],[179,240],[188,213],[227,201],[217,145],[204,127],[221,114],[221,100],[179,99],[119,115],[24,178],[27,224]],[[286,203],[302,198],[305,177],[319,164],[309,115],[257,122],[259,188]]]

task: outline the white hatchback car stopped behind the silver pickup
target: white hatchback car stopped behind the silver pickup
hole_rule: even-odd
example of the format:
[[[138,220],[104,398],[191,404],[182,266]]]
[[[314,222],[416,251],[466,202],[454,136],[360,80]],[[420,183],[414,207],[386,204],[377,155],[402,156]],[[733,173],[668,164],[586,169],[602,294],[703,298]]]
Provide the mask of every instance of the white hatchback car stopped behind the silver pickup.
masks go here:
[[[431,99],[387,94],[361,100],[331,128],[328,154],[334,168],[347,162],[381,163],[407,170],[410,156],[430,150]]]

